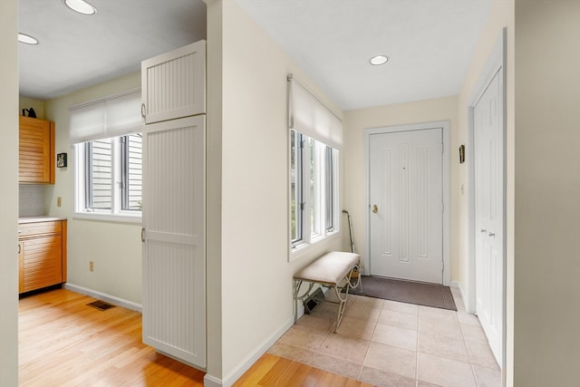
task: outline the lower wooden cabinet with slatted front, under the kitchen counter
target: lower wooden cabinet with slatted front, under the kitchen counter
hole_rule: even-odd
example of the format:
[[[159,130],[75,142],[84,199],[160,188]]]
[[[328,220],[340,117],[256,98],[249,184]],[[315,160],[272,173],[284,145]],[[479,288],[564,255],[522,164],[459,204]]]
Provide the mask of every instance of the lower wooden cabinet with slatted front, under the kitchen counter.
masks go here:
[[[19,293],[66,282],[66,220],[18,225]]]

